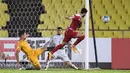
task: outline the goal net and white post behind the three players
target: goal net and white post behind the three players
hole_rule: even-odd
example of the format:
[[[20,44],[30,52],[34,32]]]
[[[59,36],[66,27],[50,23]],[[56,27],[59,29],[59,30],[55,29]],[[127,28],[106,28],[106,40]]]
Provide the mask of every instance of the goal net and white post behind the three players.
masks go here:
[[[0,53],[7,53],[7,60],[0,59],[0,68],[15,68],[15,50],[18,41],[18,31],[26,30],[30,34],[27,39],[34,49],[43,45],[56,34],[56,28],[63,30],[70,25],[65,16],[72,16],[79,13],[81,8],[89,8],[88,0],[0,0]],[[85,33],[88,39],[88,15],[82,20],[82,27],[79,32]],[[86,26],[85,26],[86,24]],[[79,68],[88,69],[88,42],[82,41],[78,48],[82,53],[74,53],[68,45],[65,53],[70,61]],[[75,39],[72,39],[72,43]],[[31,66],[24,53],[20,52],[20,62],[24,66]],[[47,52],[39,56],[41,66],[44,68]],[[52,60],[49,67],[65,68],[60,59]]]

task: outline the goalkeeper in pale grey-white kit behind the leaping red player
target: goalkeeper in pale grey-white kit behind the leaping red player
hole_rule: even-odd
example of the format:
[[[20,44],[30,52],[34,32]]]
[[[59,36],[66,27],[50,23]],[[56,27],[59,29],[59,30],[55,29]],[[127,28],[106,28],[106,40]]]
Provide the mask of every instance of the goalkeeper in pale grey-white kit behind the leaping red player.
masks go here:
[[[55,46],[59,45],[63,40],[63,35],[62,35],[62,28],[58,27],[57,28],[57,34],[53,35],[50,39],[50,41],[48,41],[44,47],[50,47],[50,49],[54,49]],[[48,48],[49,49],[49,48]],[[54,53],[53,58],[52,59],[61,59],[66,65],[68,65],[69,67],[72,67],[74,69],[78,69],[74,64],[71,63],[70,59],[68,58],[68,56],[65,54],[65,49],[62,48],[60,50],[58,50],[57,52]],[[49,63],[50,61],[47,60],[46,62],[46,68],[45,70],[48,69],[49,67]]]

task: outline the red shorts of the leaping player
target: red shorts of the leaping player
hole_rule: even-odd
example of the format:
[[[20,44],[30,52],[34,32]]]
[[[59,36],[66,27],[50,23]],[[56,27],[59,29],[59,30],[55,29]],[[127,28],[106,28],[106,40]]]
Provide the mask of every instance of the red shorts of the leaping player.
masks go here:
[[[77,36],[77,34],[78,34],[79,32],[77,32],[77,31],[74,31],[73,29],[67,29],[66,31],[65,31],[65,37],[64,37],[64,39],[63,39],[63,42],[69,42],[72,38],[76,38],[76,36]]]

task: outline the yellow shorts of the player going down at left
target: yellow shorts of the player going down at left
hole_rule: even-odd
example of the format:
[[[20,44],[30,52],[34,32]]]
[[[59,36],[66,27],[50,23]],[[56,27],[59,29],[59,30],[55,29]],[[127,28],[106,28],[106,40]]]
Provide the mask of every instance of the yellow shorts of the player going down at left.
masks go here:
[[[40,63],[38,61],[38,56],[41,54],[41,48],[38,48],[33,51],[33,54],[28,56],[28,59],[33,64],[35,68],[40,68]]]

